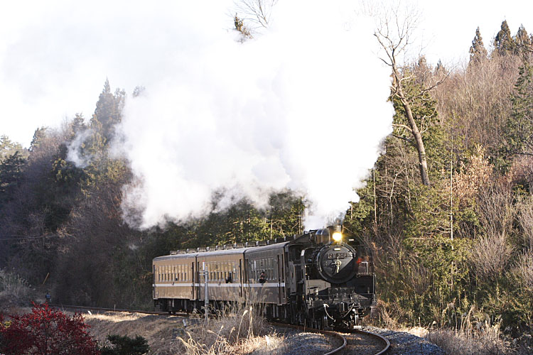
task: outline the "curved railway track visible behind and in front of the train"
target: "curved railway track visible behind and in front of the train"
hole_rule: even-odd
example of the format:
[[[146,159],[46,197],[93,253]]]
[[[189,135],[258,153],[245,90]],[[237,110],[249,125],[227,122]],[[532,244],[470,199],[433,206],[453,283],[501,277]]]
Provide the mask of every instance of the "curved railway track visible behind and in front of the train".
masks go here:
[[[86,306],[75,306],[75,305],[54,305],[50,304],[50,307],[55,307],[61,310],[74,310],[74,311],[92,311],[92,312],[128,312],[128,313],[139,313],[144,315],[175,315],[177,317],[188,317],[188,314],[185,312],[175,312],[169,314],[168,312],[154,312],[146,310],[125,310],[122,308],[103,308],[103,307],[86,307]],[[348,333],[344,333],[345,329],[340,331],[331,331],[331,330],[321,330],[313,329],[309,327],[301,327],[299,325],[286,324],[286,323],[277,323],[269,322],[271,325],[276,327],[285,327],[298,329],[303,332],[315,332],[327,335],[329,337],[334,337],[342,343],[337,348],[329,351],[325,355],[333,354],[342,354],[342,355],[352,355],[352,354],[368,354],[368,355],[381,355],[385,354],[390,347],[390,342],[387,338],[382,337],[379,334],[372,332],[366,332],[362,329],[352,329]]]

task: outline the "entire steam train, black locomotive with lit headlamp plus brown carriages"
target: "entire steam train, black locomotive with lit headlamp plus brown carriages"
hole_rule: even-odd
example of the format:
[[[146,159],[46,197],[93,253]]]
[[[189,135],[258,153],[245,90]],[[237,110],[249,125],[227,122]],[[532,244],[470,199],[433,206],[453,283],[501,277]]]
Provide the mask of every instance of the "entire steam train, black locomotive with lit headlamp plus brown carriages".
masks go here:
[[[254,298],[269,319],[330,329],[360,324],[376,304],[372,254],[340,225],[171,251],[153,268],[154,305],[165,312],[200,310],[206,297],[213,306]]]

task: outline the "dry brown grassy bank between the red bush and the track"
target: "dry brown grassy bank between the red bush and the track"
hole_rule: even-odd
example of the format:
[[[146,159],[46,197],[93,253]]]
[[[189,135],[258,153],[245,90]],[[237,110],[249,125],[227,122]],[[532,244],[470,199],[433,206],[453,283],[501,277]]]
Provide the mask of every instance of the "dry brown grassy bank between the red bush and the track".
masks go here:
[[[185,319],[129,313],[84,314],[90,333],[100,344],[108,334],[144,337],[149,354],[266,355],[284,354],[284,336],[267,326],[252,302],[235,302],[205,324],[203,315]]]

